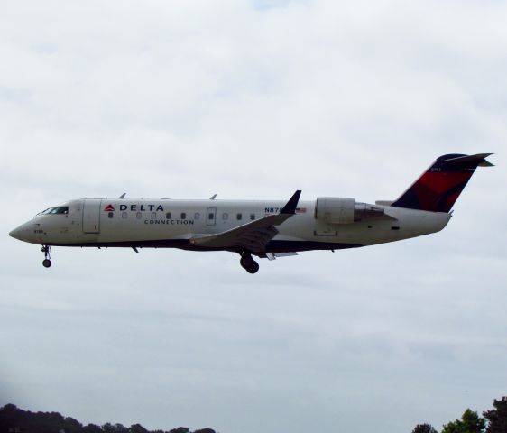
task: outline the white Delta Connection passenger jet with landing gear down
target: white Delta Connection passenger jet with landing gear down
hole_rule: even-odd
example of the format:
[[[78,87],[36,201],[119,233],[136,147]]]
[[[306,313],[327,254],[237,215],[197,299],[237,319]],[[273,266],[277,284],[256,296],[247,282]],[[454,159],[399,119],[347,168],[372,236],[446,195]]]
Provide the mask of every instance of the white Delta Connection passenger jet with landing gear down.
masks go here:
[[[431,164],[400,198],[376,201],[319,197],[287,202],[79,198],[49,207],[9,235],[41,244],[42,265],[51,246],[180,248],[229,251],[249,273],[253,256],[274,260],[310,250],[339,250],[400,241],[442,230],[451,208],[477,167],[493,153],[447,154]]]

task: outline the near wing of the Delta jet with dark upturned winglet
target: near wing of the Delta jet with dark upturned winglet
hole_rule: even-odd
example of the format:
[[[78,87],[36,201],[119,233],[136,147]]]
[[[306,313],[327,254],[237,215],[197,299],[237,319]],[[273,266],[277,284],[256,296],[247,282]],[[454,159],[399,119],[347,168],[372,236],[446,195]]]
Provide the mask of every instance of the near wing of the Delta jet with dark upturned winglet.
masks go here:
[[[265,253],[266,244],[278,235],[276,226],[296,214],[300,195],[301,191],[297,190],[278,215],[268,215],[217,235],[191,237],[189,241],[210,248],[237,248],[252,253]]]

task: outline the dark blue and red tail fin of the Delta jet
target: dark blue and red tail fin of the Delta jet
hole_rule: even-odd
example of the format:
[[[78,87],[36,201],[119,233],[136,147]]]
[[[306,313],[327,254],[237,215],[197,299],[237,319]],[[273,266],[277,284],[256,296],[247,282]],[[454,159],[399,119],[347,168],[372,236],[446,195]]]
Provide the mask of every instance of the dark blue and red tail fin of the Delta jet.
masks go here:
[[[493,153],[440,156],[391,206],[449,212],[477,167],[491,167]]]

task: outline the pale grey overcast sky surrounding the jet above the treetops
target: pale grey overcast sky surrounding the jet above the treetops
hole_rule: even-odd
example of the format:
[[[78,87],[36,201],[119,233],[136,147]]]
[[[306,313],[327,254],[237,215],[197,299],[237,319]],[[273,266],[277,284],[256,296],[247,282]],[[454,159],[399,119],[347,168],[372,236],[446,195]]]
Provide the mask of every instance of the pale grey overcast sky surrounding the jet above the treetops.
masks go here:
[[[440,428],[507,394],[507,4],[0,7],[0,404],[222,433]],[[495,152],[447,228],[301,253],[55,248],[69,198],[396,198]]]

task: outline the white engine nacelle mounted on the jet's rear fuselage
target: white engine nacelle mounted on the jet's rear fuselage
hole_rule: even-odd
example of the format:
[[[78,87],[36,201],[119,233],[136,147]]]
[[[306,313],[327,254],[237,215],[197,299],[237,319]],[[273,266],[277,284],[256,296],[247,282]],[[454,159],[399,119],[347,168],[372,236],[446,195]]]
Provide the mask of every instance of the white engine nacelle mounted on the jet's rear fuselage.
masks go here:
[[[315,204],[315,218],[328,224],[352,224],[383,215],[382,207],[356,203],[354,198],[319,197]]]

